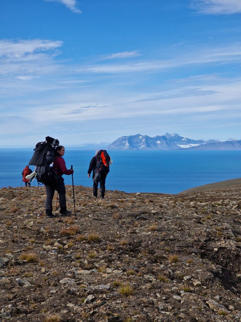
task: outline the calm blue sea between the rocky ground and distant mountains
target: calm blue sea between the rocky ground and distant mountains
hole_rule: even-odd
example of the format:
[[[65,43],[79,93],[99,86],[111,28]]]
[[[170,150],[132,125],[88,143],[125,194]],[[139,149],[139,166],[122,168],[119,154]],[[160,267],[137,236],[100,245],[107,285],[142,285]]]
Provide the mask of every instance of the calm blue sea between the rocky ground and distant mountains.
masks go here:
[[[0,149],[0,187],[21,186],[31,148]],[[241,151],[110,151],[113,164],[106,189],[176,194],[185,189],[241,177]],[[75,170],[74,184],[92,186],[87,177],[94,151],[68,149],[64,159]],[[32,171],[34,166],[30,166]],[[64,175],[72,185],[72,177]],[[36,180],[34,180],[36,181]],[[24,184],[24,183],[23,183]],[[36,182],[35,182],[36,185]]]

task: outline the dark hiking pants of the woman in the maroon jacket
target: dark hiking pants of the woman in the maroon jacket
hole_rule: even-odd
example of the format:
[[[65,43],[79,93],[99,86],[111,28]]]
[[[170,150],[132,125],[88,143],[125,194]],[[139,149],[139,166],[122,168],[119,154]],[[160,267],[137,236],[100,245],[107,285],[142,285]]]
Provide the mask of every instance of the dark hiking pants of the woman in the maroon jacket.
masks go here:
[[[63,180],[63,178],[62,178]],[[45,200],[45,210],[46,214],[50,214],[53,211],[52,201],[54,197],[55,190],[58,192],[59,195],[59,206],[60,206],[60,213],[66,212],[66,198],[65,198],[65,184],[64,181],[60,181],[58,185],[45,185],[46,189],[46,200]]]

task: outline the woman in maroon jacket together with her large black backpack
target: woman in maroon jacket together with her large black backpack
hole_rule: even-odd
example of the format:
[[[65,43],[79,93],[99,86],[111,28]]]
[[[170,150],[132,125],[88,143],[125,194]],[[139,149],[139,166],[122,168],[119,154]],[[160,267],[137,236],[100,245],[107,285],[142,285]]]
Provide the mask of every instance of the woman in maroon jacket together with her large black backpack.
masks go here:
[[[29,165],[35,165],[34,173],[38,184],[44,184],[46,189],[45,210],[47,218],[55,218],[52,213],[52,201],[55,190],[59,194],[60,215],[69,215],[65,197],[65,184],[63,174],[71,175],[73,169],[68,170],[63,155],[65,147],[59,145],[59,141],[53,137],[46,137],[44,142],[38,142]],[[36,171],[36,172],[35,172]]]

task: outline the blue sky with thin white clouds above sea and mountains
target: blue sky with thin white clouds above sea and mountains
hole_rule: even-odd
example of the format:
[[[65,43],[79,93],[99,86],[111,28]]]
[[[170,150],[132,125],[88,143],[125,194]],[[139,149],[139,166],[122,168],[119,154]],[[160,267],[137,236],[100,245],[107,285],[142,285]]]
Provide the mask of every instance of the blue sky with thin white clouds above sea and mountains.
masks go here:
[[[240,18],[240,0],[1,0],[1,146],[241,138]]]

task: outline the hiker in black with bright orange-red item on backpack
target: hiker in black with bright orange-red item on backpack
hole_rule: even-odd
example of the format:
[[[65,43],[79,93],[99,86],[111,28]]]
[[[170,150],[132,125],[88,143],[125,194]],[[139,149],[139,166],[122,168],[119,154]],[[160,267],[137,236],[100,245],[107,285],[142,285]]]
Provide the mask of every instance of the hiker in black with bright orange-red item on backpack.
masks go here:
[[[95,156],[91,159],[88,177],[90,178],[91,171],[93,171],[93,197],[97,198],[98,184],[100,183],[100,197],[104,199],[105,195],[105,179],[110,171],[111,158],[106,150],[96,150]]]

